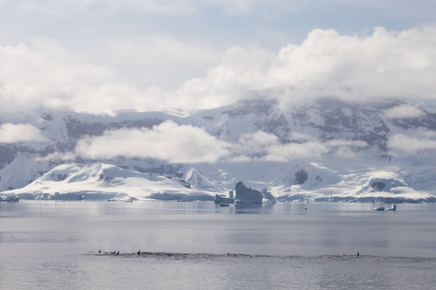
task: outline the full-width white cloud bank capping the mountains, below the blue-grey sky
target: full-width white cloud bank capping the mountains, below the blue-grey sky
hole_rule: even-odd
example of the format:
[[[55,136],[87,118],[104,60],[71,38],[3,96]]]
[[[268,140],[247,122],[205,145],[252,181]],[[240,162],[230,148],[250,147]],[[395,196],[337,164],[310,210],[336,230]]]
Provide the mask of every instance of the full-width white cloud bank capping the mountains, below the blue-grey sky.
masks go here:
[[[162,43],[172,42],[167,39]],[[132,45],[133,48],[114,48],[114,62],[126,51],[132,54],[130,59],[139,55],[140,50],[134,49],[137,44]],[[175,55],[170,63],[180,64],[177,45],[171,46],[162,49],[166,55]],[[194,50],[194,46],[186,47]],[[199,51],[207,49],[202,47]],[[190,54],[181,53],[180,58],[187,55]],[[143,88],[138,85],[141,78],[133,80],[120,74],[116,65],[90,63],[58,43],[40,50],[24,44],[0,46],[0,59],[4,60],[0,67],[0,100],[7,102],[9,109],[43,107],[95,112],[165,108],[168,104],[207,109],[250,95],[271,95],[289,103],[323,96],[351,102],[380,97],[435,98],[436,26],[400,32],[379,27],[365,36],[316,29],[303,43],[286,45],[278,52],[247,45],[229,48],[222,55],[219,64],[205,69],[203,76],[185,80],[180,87]],[[192,55],[189,58],[194,60]],[[140,59],[144,60],[138,56]],[[207,57],[199,61],[203,63],[199,69],[212,63]],[[159,74],[157,68],[155,63],[142,78]],[[183,73],[180,70],[172,77]]]

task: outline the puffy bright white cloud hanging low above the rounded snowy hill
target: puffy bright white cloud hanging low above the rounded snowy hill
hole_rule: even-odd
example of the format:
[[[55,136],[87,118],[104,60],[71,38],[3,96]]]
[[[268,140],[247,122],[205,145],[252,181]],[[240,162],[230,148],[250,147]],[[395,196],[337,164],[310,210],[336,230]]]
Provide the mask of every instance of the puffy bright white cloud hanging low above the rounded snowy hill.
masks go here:
[[[214,163],[229,154],[228,147],[204,128],[167,121],[152,129],[118,129],[85,137],[78,141],[76,155],[83,159],[126,156],[172,163]]]

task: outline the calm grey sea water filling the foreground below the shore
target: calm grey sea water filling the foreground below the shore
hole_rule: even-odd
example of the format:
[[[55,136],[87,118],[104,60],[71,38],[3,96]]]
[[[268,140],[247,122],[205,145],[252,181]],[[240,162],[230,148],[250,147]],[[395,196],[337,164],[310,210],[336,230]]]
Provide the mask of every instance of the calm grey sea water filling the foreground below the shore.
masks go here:
[[[3,202],[0,288],[436,289],[436,205],[374,206]]]

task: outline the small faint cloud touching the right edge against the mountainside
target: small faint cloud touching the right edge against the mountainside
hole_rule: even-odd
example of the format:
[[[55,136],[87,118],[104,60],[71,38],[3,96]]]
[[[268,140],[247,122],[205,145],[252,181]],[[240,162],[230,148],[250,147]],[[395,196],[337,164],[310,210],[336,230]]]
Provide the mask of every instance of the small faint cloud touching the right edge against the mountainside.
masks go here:
[[[388,140],[391,149],[400,149],[415,154],[421,150],[435,150],[436,141],[427,138],[410,137],[404,134],[395,134]]]

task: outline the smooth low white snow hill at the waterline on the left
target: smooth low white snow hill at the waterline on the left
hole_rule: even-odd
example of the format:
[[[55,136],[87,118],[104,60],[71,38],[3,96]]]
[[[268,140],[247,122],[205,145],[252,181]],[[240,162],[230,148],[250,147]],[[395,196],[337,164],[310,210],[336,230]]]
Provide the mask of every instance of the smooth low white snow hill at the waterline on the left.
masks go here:
[[[214,193],[192,190],[179,182],[152,173],[130,171],[105,163],[63,164],[56,166],[28,186],[5,191],[4,195],[21,198],[50,198],[56,193],[81,194],[85,199],[143,199],[156,193],[183,194],[213,200]]]

